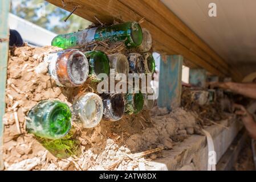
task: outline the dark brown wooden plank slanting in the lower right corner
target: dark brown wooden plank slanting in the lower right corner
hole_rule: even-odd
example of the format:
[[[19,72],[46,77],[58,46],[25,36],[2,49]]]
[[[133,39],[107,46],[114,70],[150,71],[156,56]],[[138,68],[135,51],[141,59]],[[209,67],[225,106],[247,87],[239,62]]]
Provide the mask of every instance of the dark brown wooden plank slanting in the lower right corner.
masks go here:
[[[241,148],[245,144],[246,139],[248,139],[249,136],[246,133],[246,130],[243,129],[239,131],[237,134],[237,137],[233,140],[230,147],[226,150],[225,154],[221,157],[220,161],[218,162],[216,169],[218,171],[230,171],[234,163],[237,160],[237,157],[239,155],[239,152],[241,151]]]

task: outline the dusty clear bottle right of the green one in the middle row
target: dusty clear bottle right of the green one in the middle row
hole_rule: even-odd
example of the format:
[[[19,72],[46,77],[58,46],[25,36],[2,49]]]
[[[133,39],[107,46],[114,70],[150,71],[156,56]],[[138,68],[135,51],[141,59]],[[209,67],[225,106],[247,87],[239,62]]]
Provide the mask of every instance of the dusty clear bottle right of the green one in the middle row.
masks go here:
[[[127,57],[121,53],[113,53],[108,55],[109,64],[111,69],[115,69],[115,73],[123,73],[128,76],[129,62]]]

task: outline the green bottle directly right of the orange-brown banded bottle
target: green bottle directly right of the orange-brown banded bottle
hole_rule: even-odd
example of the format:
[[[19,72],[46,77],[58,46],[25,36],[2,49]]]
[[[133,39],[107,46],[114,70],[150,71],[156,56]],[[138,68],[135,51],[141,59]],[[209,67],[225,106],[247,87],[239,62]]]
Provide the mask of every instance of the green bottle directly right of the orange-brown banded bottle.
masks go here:
[[[89,76],[95,78],[95,80],[100,81],[97,79],[97,76],[100,73],[105,73],[109,75],[110,73],[110,66],[109,66],[109,59],[108,56],[105,55],[102,51],[88,51],[85,52],[87,60],[89,62]]]

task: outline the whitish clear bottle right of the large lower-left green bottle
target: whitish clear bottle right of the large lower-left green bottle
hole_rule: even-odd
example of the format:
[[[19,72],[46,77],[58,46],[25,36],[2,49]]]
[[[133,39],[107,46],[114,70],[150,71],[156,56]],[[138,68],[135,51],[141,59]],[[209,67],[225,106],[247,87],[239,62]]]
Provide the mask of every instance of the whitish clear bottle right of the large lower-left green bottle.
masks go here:
[[[103,102],[95,93],[84,93],[74,101],[72,107],[83,128],[97,126],[103,116]]]

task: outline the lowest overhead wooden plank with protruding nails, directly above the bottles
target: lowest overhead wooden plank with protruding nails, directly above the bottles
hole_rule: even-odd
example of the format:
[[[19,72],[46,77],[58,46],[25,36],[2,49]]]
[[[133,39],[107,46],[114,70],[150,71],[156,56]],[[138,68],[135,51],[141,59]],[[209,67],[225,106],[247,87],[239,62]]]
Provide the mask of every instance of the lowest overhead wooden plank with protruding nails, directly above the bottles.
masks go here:
[[[52,4],[63,7],[63,4],[60,0],[47,0]],[[113,20],[119,20],[121,22],[126,21],[139,21],[143,17],[136,14],[134,11],[129,9],[127,6],[123,5],[123,3],[117,0],[75,0],[75,1],[64,1],[66,6],[63,9],[71,11],[74,9],[76,5],[80,5],[79,8],[75,11],[75,14],[81,16],[82,18],[88,19],[91,22],[99,23],[94,18],[100,20],[100,22],[104,23],[112,23]],[[193,52],[191,52],[188,48],[182,46],[177,40],[173,39],[171,36],[165,34],[160,28],[151,24],[147,20],[144,20],[141,23],[141,26],[147,28],[153,37],[153,47],[158,49],[159,44],[163,45],[166,49],[166,54],[171,54],[173,52],[179,53],[184,56],[186,59],[193,61],[198,67],[205,68],[209,72],[218,76],[225,76],[227,73],[222,73],[219,69],[213,67],[205,60],[201,59],[201,57],[197,56]],[[170,53],[169,53],[170,52]]]

